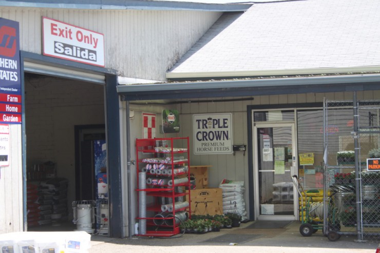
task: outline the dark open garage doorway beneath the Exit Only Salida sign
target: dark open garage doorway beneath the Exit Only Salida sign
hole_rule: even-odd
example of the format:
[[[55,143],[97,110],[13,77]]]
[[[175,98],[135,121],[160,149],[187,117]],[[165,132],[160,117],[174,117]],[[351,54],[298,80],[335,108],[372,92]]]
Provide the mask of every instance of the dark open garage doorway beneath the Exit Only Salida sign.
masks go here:
[[[71,203],[78,187],[89,187],[77,181],[75,126],[105,132],[104,85],[24,76],[28,231],[73,230]]]

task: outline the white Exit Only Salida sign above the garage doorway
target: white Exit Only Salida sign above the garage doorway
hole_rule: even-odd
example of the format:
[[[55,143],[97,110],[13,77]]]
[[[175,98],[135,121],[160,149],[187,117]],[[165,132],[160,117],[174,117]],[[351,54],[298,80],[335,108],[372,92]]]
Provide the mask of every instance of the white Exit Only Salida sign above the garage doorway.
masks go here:
[[[103,34],[42,18],[43,54],[104,67]]]

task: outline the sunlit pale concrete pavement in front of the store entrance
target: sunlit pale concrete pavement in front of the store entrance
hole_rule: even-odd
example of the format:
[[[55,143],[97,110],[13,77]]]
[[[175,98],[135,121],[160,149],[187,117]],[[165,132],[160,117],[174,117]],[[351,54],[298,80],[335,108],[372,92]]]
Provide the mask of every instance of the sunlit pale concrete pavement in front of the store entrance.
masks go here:
[[[374,253],[378,245],[377,242],[355,242],[357,239],[355,235],[342,235],[339,240],[330,242],[321,231],[311,237],[302,237],[299,233],[300,222],[293,222],[284,228],[247,228],[252,223],[241,224],[239,228],[221,229],[220,232],[207,232],[202,235],[185,233],[181,237],[165,239],[148,237],[115,239],[91,236],[89,252]],[[230,245],[236,241],[237,245]]]

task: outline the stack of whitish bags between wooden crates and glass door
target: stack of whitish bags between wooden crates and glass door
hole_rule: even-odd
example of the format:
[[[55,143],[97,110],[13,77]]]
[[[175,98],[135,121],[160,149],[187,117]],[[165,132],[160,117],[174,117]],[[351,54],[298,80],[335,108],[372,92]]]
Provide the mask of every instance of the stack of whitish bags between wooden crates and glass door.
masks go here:
[[[223,196],[223,213],[237,212],[241,221],[248,220],[244,201],[244,181],[223,179],[219,184]]]

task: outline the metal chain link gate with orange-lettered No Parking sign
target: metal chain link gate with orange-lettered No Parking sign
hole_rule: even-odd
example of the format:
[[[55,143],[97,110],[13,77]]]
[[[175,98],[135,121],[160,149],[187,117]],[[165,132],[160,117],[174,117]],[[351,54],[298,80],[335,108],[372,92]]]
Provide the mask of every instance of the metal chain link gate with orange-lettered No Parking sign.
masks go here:
[[[380,101],[325,100],[323,132],[324,234],[379,242]]]

